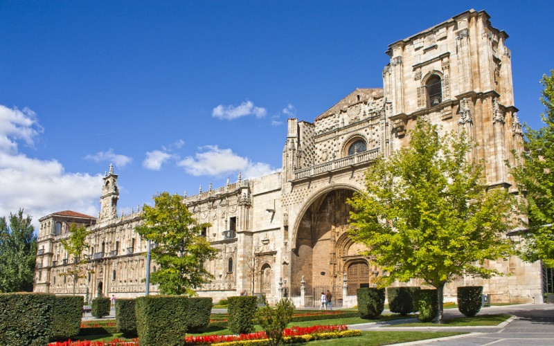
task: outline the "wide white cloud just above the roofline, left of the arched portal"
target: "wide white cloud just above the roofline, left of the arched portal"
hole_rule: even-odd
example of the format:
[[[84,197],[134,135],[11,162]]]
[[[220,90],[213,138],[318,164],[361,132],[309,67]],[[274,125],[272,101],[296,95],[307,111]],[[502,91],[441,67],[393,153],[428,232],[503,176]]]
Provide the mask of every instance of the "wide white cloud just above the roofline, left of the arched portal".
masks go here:
[[[199,149],[203,151],[197,152],[194,158],[187,156],[177,164],[194,176],[242,172],[242,176],[248,179],[277,171],[267,163],[253,163],[249,158],[239,156],[231,149],[220,149],[217,145],[206,145]]]

